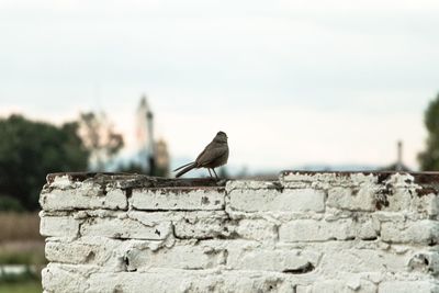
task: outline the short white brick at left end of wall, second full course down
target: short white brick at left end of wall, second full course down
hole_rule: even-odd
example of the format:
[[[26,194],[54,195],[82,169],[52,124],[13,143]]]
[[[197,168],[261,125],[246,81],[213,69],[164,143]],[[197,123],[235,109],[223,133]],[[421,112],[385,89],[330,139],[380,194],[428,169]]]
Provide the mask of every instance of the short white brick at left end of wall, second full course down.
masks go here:
[[[40,233],[43,236],[77,237],[79,221],[72,216],[41,216]]]

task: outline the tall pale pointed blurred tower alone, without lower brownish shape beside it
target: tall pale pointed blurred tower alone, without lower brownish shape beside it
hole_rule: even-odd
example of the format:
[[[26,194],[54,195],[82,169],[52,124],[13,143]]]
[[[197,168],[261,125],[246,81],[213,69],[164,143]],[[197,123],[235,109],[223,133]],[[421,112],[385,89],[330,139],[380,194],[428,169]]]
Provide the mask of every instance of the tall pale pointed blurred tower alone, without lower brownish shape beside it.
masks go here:
[[[154,114],[149,109],[146,95],[143,95],[136,112],[136,140],[138,164],[149,174],[155,173],[154,155]]]

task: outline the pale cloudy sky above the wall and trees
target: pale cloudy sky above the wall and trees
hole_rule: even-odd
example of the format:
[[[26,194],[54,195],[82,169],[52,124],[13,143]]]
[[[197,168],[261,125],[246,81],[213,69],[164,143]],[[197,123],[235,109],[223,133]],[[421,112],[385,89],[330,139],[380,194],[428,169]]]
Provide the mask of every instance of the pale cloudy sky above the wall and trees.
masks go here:
[[[143,94],[173,161],[217,131],[229,165],[418,168],[439,92],[439,2],[0,0],[0,115],[104,111],[134,145]]]

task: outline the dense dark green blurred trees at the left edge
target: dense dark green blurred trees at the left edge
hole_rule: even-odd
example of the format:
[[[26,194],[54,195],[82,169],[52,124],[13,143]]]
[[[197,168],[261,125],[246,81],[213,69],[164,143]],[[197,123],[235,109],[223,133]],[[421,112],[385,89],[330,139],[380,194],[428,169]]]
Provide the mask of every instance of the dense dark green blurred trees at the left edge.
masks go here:
[[[21,115],[0,119],[0,201],[37,210],[47,173],[87,169],[89,150],[77,131],[76,122],[57,127]]]

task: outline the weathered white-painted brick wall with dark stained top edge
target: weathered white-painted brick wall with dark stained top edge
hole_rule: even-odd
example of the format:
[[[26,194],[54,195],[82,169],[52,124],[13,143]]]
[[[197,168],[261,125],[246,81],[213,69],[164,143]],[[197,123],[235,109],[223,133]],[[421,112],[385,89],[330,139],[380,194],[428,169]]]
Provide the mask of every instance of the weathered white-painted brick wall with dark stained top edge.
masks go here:
[[[439,174],[52,174],[45,292],[439,292]]]

